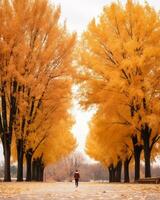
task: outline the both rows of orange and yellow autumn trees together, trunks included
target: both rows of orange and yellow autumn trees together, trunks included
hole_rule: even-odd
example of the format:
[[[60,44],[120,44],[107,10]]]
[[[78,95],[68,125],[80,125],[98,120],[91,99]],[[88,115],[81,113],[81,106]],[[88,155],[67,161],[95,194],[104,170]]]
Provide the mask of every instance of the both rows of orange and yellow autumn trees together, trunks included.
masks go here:
[[[129,182],[130,163],[138,180],[141,160],[151,177],[160,139],[159,13],[132,0],[105,6],[74,56],[76,35],[60,16],[48,0],[0,1],[4,180],[11,180],[11,158],[18,181],[24,166],[27,181],[41,181],[45,166],[74,150],[73,80],[82,107],[95,110],[86,152],[108,168],[111,182],[121,181],[122,167]]]

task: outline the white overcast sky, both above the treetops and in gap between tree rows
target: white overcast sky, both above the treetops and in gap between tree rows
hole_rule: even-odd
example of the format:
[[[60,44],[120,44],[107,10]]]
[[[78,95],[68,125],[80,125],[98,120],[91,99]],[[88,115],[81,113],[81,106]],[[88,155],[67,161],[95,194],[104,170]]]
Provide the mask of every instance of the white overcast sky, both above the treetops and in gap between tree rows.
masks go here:
[[[67,27],[70,31],[76,31],[80,35],[82,33],[90,20],[93,17],[100,15],[103,6],[109,5],[113,0],[51,0],[56,5],[61,5],[62,20],[67,21]],[[135,0],[136,1],[136,0]],[[125,3],[126,0],[121,0]],[[139,2],[144,3],[145,0],[139,0]],[[160,9],[160,0],[148,0],[150,5],[154,6],[157,10]],[[84,152],[85,140],[88,129],[88,122],[93,115],[93,112],[84,112],[80,110],[77,102],[74,102],[74,107],[72,109],[73,115],[76,118],[76,124],[73,127],[73,133],[77,138],[79,143],[78,150]]]

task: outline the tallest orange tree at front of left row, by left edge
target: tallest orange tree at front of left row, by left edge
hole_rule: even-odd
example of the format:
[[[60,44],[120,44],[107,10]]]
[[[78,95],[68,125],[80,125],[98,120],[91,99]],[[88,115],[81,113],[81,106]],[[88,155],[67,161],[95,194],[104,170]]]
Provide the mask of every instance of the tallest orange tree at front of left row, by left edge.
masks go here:
[[[40,117],[45,119],[47,110],[43,113],[43,107],[47,102],[51,104],[51,111],[56,105],[47,98],[55,96],[57,103],[64,104],[70,96],[75,35],[69,35],[66,26],[59,24],[60,8],[51,6],[47,0],[4,0],[0,6],[0,132],[5,180],[10,181],[13,128],[22,166],[26,135],[33,132]],[[66,87],[62,89],[61,84]],[[61,103],[58,106],[63,107]],[[63,108],[68,107],[69,104]]]

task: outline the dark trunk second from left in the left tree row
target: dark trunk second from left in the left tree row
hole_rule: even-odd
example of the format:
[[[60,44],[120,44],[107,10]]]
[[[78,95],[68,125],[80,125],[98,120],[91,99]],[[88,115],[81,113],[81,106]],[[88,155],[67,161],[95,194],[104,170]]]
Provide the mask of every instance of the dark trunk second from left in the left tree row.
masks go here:
[[[17,140],[17,181],[23,181],[23,158],[24,158],[24,149],[23,149],[23,140]]]

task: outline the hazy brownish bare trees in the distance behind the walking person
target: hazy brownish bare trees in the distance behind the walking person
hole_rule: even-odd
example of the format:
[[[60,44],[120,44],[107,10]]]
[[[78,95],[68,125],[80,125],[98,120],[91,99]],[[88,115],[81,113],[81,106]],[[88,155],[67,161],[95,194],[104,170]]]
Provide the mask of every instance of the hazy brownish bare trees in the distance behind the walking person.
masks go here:
[[[74,152],[56,164],[48,165],[45,169],[45,180],[71,181],[75,169],[80,172],[80,181],[108,179],[107,170],[100,163],[88,163],[82,153]]]

